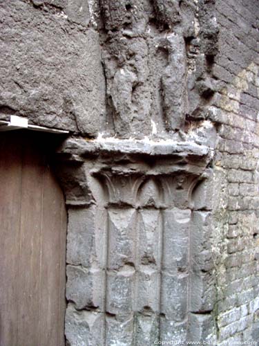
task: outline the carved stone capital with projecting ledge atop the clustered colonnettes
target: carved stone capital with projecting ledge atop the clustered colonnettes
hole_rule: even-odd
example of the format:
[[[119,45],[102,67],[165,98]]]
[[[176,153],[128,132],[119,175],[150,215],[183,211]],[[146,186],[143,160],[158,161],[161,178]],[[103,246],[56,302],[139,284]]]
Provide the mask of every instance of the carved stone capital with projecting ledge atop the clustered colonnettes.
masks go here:
[[[209,147],[191,142],[68,138],[57,152],[57,172],[70,204],[94,203],[94,177],[101,181],[106,203],[190,208],[191,192],[211,154]],[[150,193],[153,197],[144,201]]]

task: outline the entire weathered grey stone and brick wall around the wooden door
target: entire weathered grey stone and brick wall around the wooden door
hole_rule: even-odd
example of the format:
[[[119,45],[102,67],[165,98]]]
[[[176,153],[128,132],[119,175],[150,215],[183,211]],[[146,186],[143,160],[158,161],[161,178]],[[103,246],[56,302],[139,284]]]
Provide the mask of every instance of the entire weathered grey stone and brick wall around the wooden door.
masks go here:
[[[70,131],[67,345],[257,342],[257,1],[0,11],[0,120]]]

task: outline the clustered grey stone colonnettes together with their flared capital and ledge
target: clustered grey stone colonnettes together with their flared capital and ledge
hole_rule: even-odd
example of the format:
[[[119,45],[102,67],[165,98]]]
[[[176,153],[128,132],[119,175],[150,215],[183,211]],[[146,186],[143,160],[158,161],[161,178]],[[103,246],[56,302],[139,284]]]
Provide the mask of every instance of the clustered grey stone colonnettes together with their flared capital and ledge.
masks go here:
[[[203,280],[199,260],[207,249],[193,248],[202,244],[200,227],[206,224],[193,203],[202,205],[207,191],[199,185],[193,197],[193,190],[209,151],[191,143],[151,143],[142,150],[130,144],[79,143],[77,158],[84,157],[93,199],[83,209],[69,210],[70,311],[104,315],[99,326],[107,345],[186,340],[189,313],[208,307],[211,297],[211,281]],[[62,149],[68,158],[70,147]],[[211,275],[209,267],[205,275]],[[193,292],[197,296],[191,298]]]

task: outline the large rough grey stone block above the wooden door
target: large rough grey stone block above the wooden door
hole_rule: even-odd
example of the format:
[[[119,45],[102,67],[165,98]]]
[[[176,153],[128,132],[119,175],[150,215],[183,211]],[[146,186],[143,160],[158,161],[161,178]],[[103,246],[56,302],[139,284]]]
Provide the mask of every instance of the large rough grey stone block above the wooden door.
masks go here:
[[[69,17],[81,21],[84,3],[68,1]],[[96,136],[105,115],[97,33],[80,30],[60,10],[21,0],[2,2],[0,10],[1,117],[17,114],[36,125]]]

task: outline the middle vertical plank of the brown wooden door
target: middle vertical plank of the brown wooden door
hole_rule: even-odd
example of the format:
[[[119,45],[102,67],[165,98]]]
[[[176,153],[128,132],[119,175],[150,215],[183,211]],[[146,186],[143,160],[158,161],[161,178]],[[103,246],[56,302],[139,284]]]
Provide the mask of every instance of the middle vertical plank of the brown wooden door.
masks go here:
[[[27,142],[27,141],[26,141]],[[19,248],[19,345],[39,345],[40,268],[44,165],[42,156],[23,143],[21,240]]]

